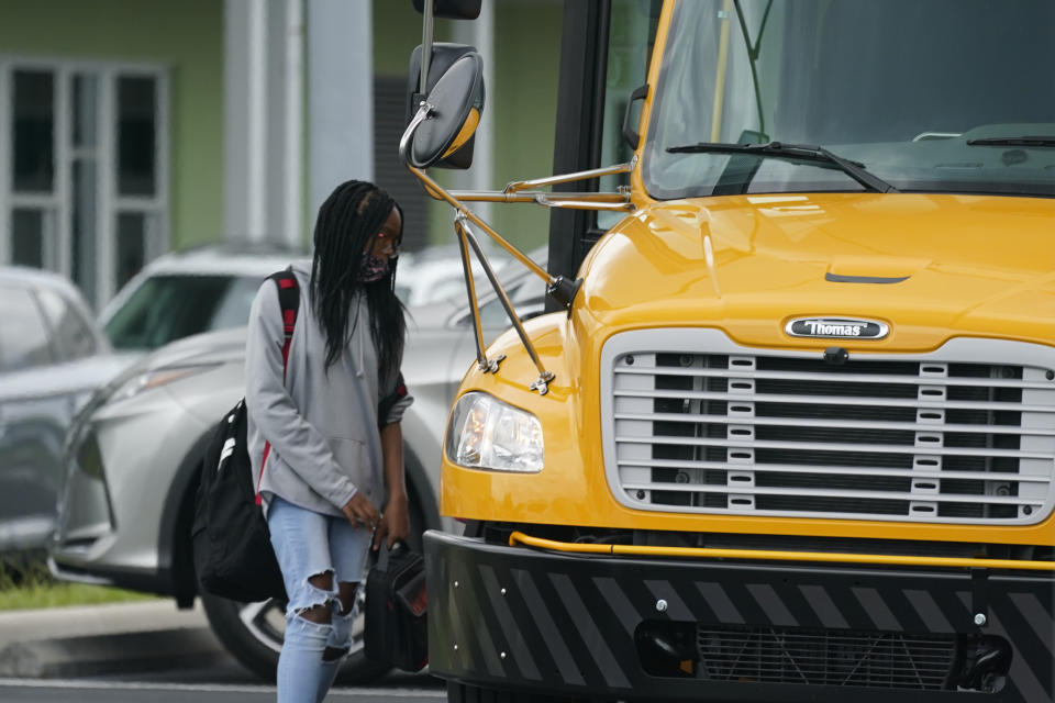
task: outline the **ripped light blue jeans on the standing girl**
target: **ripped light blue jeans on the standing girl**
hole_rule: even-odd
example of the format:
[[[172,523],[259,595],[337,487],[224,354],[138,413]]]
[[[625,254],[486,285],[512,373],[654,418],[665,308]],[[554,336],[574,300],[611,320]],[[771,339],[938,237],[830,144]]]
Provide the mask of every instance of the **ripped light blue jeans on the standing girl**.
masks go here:
[[[370,532],[353,528],[344,516],[323,515],[273,495],[267,511],[271,545],[282,570],[289,604],[286,636],[278,657],[278,703],[319,703],[336,677],[343,657],[324,660],[327,648],[347,650],[353,612],[343,613],[338,583],[363,580]],[[309,582],[331,574],[331,589]],[[302,613],[330,607],[330,623],[307,620]]]

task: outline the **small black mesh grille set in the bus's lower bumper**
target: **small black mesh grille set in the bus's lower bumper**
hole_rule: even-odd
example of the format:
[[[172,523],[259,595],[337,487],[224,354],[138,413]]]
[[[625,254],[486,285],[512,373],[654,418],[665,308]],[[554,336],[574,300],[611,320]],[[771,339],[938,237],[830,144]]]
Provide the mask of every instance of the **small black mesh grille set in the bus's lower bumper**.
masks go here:
[[[712,681],[941,690],[953,635],[770,627],[697,628],[699,678]]]

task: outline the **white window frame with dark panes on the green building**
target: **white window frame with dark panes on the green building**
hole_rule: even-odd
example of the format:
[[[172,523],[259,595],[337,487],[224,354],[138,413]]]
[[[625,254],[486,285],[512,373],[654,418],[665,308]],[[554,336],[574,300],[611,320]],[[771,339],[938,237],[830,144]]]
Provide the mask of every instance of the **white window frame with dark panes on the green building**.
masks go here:
[[[55,180],[51,193],[16,193],[11,182],[12,113],[16,70],[49,71],[55,90],[54,154]],[[92,76],[97,79],[96,146],[73,145],[73,77]],[[155,194],[153,197],[121,197],[118,194],[118,78],[144,77],[155,82],[157,113],[155,115]],[[77,157],[91,156],[96,161],[96,297],[89,301],[101,310],[116,292],[116,230],[121,213],[140,213],[148,223],[145,233],[145,261],[164,254],[170,245],[169,202],[169,69],[163,64],[76,60],[0,54],[0,264],[10,264],[12,213],[19,208],[45,209],[55,227],[53,259],[57,272],[71,277],[74,212],[70,178]],[[145,263],[144,261],[144,263]]]

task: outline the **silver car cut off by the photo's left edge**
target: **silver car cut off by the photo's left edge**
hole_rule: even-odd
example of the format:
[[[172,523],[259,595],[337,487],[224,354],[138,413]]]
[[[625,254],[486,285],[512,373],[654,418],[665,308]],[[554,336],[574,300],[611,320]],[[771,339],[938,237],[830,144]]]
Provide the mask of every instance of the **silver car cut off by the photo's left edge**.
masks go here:
[[[47,546],[70,420],[119,368],[68,280],[0,268],[0,551]]]

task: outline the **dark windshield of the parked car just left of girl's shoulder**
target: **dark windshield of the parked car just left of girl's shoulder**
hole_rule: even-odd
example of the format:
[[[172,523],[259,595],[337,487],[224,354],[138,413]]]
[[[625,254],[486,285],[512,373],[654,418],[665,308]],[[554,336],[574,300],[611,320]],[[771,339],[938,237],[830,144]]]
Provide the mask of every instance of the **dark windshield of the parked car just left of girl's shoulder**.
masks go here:
[[[244,325],[260,280],[254,276],[152,276],[107,322],[107,336],[119,349],[155,349],[192,334]]]

